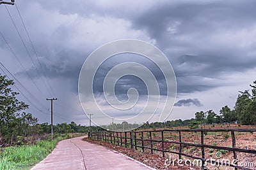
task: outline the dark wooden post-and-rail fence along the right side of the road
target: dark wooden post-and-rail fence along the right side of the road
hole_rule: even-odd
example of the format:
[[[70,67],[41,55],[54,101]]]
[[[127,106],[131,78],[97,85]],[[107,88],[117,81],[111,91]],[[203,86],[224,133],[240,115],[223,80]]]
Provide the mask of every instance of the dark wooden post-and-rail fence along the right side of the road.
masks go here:
[[[168,140],[166,138],[166,133],[172,133],[176,132],[179,133],[179,135],[175,136],[177,141],[175,140]],[[200,141],[198,143],[187,143],[182,141],[182,132],[195,132],[197,134],[200,132]],[[209,132],[225,132],[226,134],[231,136],[232,138],[232,146],[216,146],[216,145],[205,145],[204,139],[207,133]],[[127,131],[127,132],[113,132],[113,131],[95,131],[95,132],[89,132],[88,138],[97,140],[97,141],[104,141],[113,143],[118,146],[125,146],[126,148],[134,148],[135,150],[141,150],[142,152],[145,152],[145,150],[149,150],[150,153],[161,152],[163,157],[165,157],[165,153],[174,153],[179,155],[179,159],[182,159],[182,156],[189,157],[192,159],[198,159],[202,160],[202,169],[205,169],[205,165],[207,163],[211,164],[218,164],[222,166],[230,166],[235,167],[235,169],[246,169],[250,170],[248,167],[242,167],[238,166],[237,162],[234,164],[230,164],[227,162],[218,162],[217,160],[212,159],[205,159],[205,149],[216,149],[216,150],[224,150],[229,151],[233,153],[234,160],[237,160],[237,153],[252,153],[256,154],[256,150],[252,149],[243,149],[243,148],[236,148],[236,134],[239,132],[256,132],[256,129],[163,129],[163,130],[157,130],[157,131]],[[229,134],[230,133],[230,134]],[[145,134],[147,136],[145,136]],[[153,136],[152,136],[153,134]],[[249,134],[249,133],[248,133]],[[185,134],[183,134],[185,135]],[[250,135],[250,134],[249,134]],[[184,136],[183,136],[184,137]],[[166,143],[169,144],[175,144],[179,146],[179,152],[170,150],[170,148],[166,148]],[[158,146],[158,147],[157,147]],[[160,146],[160,147],[159,147]],[[182,148],[186,146],[194,146],[198,147],[201,150],[201,157],[195,156],[193,154],[188,154],[182,152]],[[255,155],[256,156],[256,155]]]

